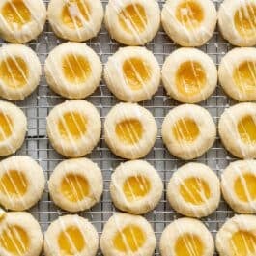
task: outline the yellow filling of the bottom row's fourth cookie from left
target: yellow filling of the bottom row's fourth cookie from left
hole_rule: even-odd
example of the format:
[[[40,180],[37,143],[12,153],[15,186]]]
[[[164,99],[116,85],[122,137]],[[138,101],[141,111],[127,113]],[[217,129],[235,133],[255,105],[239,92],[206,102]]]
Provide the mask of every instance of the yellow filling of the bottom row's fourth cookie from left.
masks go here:
[[[177,239],[174,250],[176,256],[203,256],[204,244],[198,236],[185,234]]]

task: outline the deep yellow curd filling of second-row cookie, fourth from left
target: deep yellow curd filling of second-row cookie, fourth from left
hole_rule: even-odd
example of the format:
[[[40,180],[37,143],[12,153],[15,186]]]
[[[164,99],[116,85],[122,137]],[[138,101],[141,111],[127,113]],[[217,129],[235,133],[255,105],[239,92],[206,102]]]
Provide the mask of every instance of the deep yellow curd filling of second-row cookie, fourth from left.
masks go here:
[[[200,63],[186,61],[176,73],[175,84],[185,96],[199,94],[206,85],[206,73]]]

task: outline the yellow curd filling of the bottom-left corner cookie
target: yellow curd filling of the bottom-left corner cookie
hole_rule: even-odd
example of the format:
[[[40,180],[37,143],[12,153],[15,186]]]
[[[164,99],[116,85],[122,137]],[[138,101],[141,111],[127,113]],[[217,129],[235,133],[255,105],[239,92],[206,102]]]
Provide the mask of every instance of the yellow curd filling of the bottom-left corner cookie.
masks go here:
[[[22,256],[29,249],[30,241],[25,230],[19,226],[8,226],[0,235],[0,244],[10,254]]]

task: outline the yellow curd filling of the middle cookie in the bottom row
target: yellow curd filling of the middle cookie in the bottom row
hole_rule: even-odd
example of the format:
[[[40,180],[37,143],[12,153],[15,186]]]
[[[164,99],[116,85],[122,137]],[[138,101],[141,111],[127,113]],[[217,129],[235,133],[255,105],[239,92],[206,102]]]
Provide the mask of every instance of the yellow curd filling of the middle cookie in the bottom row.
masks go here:
[[[145,241],[143,230],[135,225],[130,225],[117,232],[113,239],[115,248],[121,252],[136,252]]]

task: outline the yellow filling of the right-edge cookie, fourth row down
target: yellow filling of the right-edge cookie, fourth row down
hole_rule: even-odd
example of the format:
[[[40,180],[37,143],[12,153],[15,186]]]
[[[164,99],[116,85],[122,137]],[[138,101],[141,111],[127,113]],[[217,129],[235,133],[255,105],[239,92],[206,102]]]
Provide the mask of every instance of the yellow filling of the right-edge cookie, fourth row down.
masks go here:
[[[250,173],[239,176],[234,183],[234,190],[240,200],[250,202],[256,199],[256,176]]]

